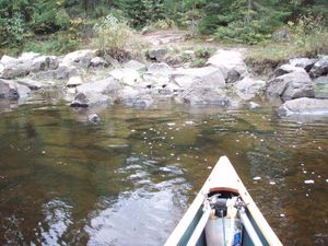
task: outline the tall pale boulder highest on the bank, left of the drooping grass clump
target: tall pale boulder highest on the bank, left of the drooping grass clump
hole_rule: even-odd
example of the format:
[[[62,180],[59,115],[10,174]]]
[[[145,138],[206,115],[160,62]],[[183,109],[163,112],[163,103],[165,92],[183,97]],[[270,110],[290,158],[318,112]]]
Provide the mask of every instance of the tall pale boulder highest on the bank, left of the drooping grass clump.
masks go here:
[[[244,57],[241,52],[235,50],[220,49],[210,57],[207,65],[220,68],[227,82],[235,82],[247,74]]]

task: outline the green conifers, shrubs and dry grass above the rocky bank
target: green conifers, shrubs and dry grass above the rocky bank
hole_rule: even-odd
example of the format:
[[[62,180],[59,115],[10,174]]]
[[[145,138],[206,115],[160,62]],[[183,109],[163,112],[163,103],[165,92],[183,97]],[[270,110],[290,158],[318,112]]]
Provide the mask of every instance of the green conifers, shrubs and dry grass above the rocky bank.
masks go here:
[[[0,7],[0,56],[94,48],[142,59],[147,44],[139,36],[167,30],[186,32],[192,45],[246,48],[245,61],[259,74],[294,57],[328,54],[326,1],[1,0]]]

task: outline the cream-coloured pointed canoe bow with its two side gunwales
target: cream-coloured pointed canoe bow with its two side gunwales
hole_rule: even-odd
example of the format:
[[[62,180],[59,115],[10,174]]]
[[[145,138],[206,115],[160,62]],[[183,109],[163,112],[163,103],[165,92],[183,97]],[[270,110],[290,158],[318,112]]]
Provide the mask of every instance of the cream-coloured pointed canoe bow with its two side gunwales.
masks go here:
[[[222,156],[195,198],[194,202],[166,241],[165,246],[187,245],[190,235],[202,215],[202,204],[206,196],[215,192],[231,192],[239,196],[246,204],[248,218],[258,233],[262,244],[269,246],[282,245],[267,220],[255,204],[229,159],[226,156]],[[196,245],[207,245],[204,233],[201,234]],[[243,238],[243,246],[245,245],[254,245],[247,233],[245,233]]]

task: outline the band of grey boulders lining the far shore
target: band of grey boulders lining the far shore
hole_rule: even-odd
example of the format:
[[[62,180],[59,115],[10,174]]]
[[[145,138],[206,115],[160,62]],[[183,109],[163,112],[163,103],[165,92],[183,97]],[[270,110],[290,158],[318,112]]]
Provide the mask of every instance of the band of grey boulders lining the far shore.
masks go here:
[[[154,49],[148,62],[120,63],[97,50],[84,49],[62,57],[34,52],[0,60],[0,98],[15,104],[39,91],[57,90],[72,107],[124,104],[148,108],[163,102],[238,107],[253,101],[284,102],[278,109],[290,115],[328,115],[328,56],[295,58],[267,80],[248,72],[243,54],[219,49],[204,67],[174,68],[161,62],[163,49]],[[301,98],[301,99],[300,99]],[[7,103],[3,103],[7,102]]]

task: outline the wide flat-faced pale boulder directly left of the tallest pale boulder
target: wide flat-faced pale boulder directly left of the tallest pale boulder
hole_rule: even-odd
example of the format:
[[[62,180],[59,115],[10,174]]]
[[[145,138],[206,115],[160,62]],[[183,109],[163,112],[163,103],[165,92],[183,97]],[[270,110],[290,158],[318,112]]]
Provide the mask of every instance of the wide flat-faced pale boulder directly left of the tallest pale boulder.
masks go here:
[[[171,81],[181,89],[219,89],[225,87],[226,85],[221,69],[218,69],[216,67],[180,69],[171,75]]]

